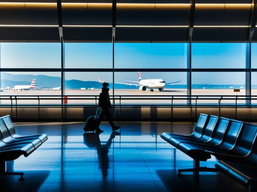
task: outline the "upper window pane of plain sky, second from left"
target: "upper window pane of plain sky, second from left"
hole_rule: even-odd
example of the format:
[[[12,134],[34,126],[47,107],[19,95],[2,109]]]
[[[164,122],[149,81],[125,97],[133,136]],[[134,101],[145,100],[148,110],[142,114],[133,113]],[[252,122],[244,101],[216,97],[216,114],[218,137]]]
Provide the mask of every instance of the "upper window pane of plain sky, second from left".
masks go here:
[[[65,68],[113,68],[112,43],[65,43]]]

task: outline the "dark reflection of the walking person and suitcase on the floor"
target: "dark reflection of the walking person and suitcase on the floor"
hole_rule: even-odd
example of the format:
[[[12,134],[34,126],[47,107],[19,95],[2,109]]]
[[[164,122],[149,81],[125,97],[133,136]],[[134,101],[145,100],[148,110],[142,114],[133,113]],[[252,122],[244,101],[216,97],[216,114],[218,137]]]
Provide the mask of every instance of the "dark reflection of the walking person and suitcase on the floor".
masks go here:
[[[106,142],[106,144],[102,145],[100,138],[99,138],[99,133],[84,133],[84,144],[90,148],[96,147],[99,168],[102,169],[103,182],[105,182],[106,177],[108,175],[108,169],[110,168],[109,167],[109,157],[108,157],[109,148],[112,145],[112,140],[117,135],[120,135],[120,133],[112,132],[112,134],[111,134],[109,140]]]

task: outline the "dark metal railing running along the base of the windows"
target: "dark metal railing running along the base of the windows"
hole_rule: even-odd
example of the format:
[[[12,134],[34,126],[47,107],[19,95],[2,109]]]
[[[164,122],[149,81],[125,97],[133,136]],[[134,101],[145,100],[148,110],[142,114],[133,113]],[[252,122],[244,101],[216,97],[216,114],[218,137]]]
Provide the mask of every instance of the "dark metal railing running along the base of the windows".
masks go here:
[[[10,104],[2,103],[0,104],[0,107],[11,107],[11,117],[12,117],[12,109],[15,108],[15,118],[17,118],[17,108],[28,108],[28,107],[37,107],[38,108],[38,119],[40,119],[40,108],[78,108],[78,107],[87,107],[87,106],[97,106],[97,101],[99,96],[98,95],[65,95],[68,98],[64,98],[61,95],[1,95],[0,100],[10,100]],[[33,97],[33,98],[32,98]],[[49,98],[52,97],[52,98]],[[78,98],[79,97],[79,98]],[[133,98],[136,97],[136,98]],[[143,98],[144,97],[144,98]],[[146,97],[146,98],[145,98]],[[148,98],[147,98],[148,97]],[[158,98],[160,97],[160,98]],[[163,98],[165,97],[165,98]],[[227,97],[227,98],[225,98]],[[242,97],[242,98],[238,98]],[[248,98],[247,98],[248,97]],[[255,97],[255,98],[254,98]],[[256,96],[251,96],[249,98],[249,95],[110,95],[110,99],[114,101],[113,106],[122,108],[127,106],[133,106],[133,107],[144,107],[144,106],[155,106],[155,107],[166,107],[171,108],[171,120],[173,120],[173,108],[174,107],[189,107],[189,108],[195,108],[195,120],[197,119],[197,108],[218,108],[218,116],[221,114],[221,108],[235,108],[236,110],[236,119],[237,119],[237,108],[257,108],[256,104],[240,104],[238,105],[238,100],[257,100]],[[38,100],[38,103],[33,104],[26,104],[26,103],[17,103],[19,100]],[[65,104],[63,102],[63,105],[61,103],[47,103],[42,104],[40,103],[41,100],[95,100],[94,104],[92,103],[72,103],[72,104]],[[116,103],[115,101],[118,100],[119,103]],[[154,104],[153,103],[121,103],[122,100],[170,100],[171,103],[159,103]],[[190,101],[191,104],[188,103],[176,103],[174,104],[175,100],[186,100]],[[192,101],[195,100],[195,103],[192,103]],[[199,100],[217,100],[217,103],[197,103]],[[235,104],[231,103],[224,103],[221,104],[222,100],[235,100]],[[15,103],[13,103],[15,101]],[[121,111],[121,110],[120,110]],[[66,111],[65,111],[66,112]],[[65,115],[66,116],[66,115]],[[62,118],[63,118],[63,112],[62,112]]]

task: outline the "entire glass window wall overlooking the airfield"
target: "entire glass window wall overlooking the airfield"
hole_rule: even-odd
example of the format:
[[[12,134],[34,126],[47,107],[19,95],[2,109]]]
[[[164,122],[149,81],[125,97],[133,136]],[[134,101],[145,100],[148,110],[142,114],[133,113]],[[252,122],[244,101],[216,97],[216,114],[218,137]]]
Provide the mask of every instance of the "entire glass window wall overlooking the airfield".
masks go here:
[[[1,43],[0,95],[2,99],[6,97],[1,103],[10,103],[10,96],[27,96],[27,100],[19,102],[32,104],[39,95],[54,95],[68,96],[68,103],[72,104],[93,104],[103,82],[109,83],[115,104],[186,104],[190,89],[193,98],[199,96],[198,103],[217,103],[220,96],[238,96],[242,100],[237,103],[243,104],[243,96],[250,96],[249,93],[257,98],[257,43],[252,43],[251,49],[249,43],[191,45],[190,69],[187,43],[114,43],[113,69],[112,43],[65,43],[62,69],[61,43]],[[176,100],[171,101],[172,96]],[[49,97],[41,103],[60,101]]]

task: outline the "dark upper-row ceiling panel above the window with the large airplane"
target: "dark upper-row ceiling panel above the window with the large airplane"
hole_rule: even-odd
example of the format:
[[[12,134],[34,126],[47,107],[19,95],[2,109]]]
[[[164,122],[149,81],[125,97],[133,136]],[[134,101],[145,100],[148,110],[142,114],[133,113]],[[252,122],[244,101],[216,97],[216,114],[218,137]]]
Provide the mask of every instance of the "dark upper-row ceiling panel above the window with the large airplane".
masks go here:
[[[118,10],[116,25],[168,25],[185,26],[189,23],[188,10]]]

